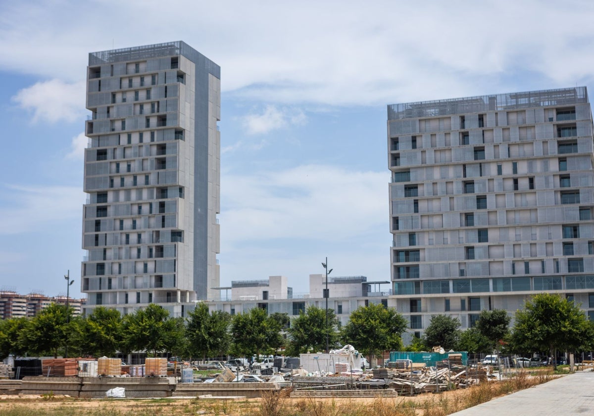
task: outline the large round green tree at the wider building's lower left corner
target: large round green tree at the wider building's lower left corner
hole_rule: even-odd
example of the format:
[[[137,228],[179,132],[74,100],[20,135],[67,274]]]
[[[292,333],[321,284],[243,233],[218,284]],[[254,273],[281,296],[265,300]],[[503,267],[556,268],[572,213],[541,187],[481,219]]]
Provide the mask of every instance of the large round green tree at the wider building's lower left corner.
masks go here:
[[[394,308],[369,304],[359,306],[350,314],[349,322],[342,329],[342,339],[373,360],[383,351],[401,350],[400,335],[407,326],[407,320]]]

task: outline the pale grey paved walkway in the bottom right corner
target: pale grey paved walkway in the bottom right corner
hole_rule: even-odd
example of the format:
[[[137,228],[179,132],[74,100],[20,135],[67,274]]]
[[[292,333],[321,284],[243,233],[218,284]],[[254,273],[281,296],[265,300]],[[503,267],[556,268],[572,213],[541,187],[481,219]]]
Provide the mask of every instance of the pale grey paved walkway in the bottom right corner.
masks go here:
[[[594,414],[594,372],[578,371],[451,416],[569,416]]]

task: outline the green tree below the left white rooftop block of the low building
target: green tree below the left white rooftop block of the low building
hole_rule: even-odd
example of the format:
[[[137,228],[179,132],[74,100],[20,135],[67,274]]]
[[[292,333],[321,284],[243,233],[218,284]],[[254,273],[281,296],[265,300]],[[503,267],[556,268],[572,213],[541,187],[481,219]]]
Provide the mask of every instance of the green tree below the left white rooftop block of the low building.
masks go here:
[[[259,307],[238,313],[231,323],[233,350],[245,357],[274,353],[283,344],[280,329],[279,321]]]

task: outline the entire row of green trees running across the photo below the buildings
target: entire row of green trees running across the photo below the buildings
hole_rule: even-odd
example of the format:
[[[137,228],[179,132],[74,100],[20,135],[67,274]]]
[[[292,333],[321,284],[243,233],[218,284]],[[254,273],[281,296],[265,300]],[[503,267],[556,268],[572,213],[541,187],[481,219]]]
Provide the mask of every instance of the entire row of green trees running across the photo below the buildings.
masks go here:
[[[97,307],[89,316],[72,317],[65,306],[52,304],[33,318],[0,321],[0,356],[61,355],[68,345],[70,355],[113,356],[116,351],[147,351],[151,355],[173,355],[205,359],[230,354],[251,357],[274,354],[285,349],[286,355],[323,351],[352,344],[373,358],[386,350],[402,350],[401,335],[407,320],[392,308],[381,304],[359,307],[340,330],[333,310],[309,306],[289,322],[284,313],[260,308],[229,315],[208,310],[206,304],[188,313],[171,317],[156,304],[121,316],[115,309]],[[326,325],[328,322],[328,325]],[[435,315],[422,339],[415,339],[407,349],[426,351],[440,345],[446,350],[469,353],[527,354],[535,351],[590,351],[594,326],[579,306],[554,294],[539,294],[516,312],[513,328],[504,310],[484,310],[474,328],[460,331],[460,321],[447,315]],[[282,336],[286,332],[287,338]]]

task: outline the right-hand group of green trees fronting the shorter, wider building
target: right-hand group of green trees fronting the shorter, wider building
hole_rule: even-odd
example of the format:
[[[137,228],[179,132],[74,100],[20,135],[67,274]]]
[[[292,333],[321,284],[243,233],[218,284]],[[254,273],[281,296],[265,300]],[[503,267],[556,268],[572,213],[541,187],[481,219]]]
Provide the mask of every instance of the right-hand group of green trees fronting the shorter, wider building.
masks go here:
[[[460,331],[460,320],[437,315],[411,348],[425,350],[434,345],[469,353],[504,351],[509,354],[594,350],[594,323],[580,306],[557,294],[537,294],[516,312],[514,325],[505,310],[483,310],[476,325]]]

